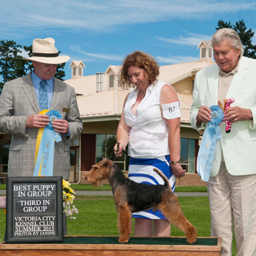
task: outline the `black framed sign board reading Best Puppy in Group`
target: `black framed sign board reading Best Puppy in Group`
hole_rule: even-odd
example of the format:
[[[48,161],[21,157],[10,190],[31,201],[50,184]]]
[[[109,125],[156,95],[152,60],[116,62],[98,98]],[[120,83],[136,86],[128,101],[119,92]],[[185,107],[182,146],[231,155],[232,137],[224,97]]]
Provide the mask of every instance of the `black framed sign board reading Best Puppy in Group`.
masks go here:
[[[6,243],[63,242],[62,177],[8,177]]]

